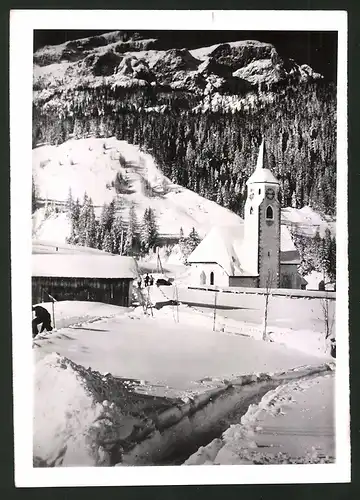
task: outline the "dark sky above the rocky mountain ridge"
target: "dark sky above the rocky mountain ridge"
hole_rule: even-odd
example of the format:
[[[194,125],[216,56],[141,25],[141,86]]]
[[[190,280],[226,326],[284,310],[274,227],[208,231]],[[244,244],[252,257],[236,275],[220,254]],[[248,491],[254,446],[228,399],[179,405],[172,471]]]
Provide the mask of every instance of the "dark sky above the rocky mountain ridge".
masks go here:
[[[115,31],[107,30],[107,31]],[[41,30],[34,32],[34,49],[105,33],[106,30]],[[129,32],[131,33],[131,32]],[[336,81],[337,33],[306,31],[138,31],[144,38],[160,38],[171,47],[188,49],[220,42],[259,40],[272,43],[280,55],[309,64]]]

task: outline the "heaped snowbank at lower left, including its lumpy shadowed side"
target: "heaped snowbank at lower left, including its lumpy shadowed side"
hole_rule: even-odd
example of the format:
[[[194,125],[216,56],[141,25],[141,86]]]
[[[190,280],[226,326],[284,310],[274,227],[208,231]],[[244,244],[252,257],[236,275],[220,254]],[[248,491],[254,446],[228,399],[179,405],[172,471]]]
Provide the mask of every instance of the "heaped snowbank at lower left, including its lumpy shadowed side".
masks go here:
[[[52,353],[35,366],[34,465],[108,466],[154,430],[170,403],[134,393],[135,382]]]

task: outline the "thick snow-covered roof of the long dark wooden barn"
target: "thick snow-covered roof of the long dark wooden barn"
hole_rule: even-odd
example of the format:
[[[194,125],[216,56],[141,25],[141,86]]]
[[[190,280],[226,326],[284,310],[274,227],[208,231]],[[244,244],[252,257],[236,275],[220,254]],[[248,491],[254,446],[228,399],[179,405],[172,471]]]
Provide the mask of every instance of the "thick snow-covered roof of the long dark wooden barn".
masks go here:
[[[134,279],[137,273],[133,257],[86,254],[33,254],[32,276]]]

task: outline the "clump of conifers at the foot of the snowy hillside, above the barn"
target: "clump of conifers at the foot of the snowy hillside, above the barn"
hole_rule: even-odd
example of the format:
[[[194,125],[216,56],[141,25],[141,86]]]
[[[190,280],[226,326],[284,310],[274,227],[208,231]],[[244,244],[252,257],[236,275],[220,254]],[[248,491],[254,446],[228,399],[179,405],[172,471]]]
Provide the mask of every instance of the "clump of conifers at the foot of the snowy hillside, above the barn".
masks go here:
[[[138,221],[135,203],[130,205],[127,221],[121,201],[104,203],[100,217],[96,217],[91,197],[84,193],[83,201],[73,199],[71,190],[66,202],[71,230],[67,242],[73,245],[97,248],[120,255],[146,254],[158,243],[158,224],[155,211],[145,209]]]

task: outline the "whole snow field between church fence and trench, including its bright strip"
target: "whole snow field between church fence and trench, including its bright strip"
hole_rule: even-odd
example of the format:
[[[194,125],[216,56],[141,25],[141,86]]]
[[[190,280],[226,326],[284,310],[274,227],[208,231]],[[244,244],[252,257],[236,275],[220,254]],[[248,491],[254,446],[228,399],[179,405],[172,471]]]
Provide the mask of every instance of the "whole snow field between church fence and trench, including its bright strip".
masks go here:
[[[105,304],[56,303],[60,330],[34,341],[36,359],[56,351],[101,372],[181,390],[206,377],[275,372],[330,359],[323,336],[316,332],[273,330],[273,342],[263,342],[256,325],[223,319],[213,331],[211,316],[168,305],[164,290],[169,288],[152,287],[153,316],[141,307],[128,312]],[[45,306],[52,311],[50,303]]]

